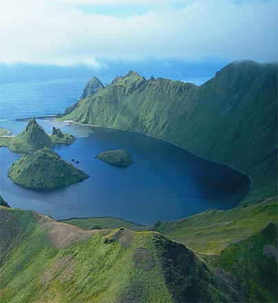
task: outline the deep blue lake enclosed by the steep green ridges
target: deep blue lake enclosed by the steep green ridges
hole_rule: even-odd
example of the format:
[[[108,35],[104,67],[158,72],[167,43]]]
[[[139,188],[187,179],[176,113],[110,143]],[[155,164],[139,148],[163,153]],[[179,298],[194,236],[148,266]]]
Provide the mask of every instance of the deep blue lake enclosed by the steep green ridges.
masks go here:
[[[75,143],[56,145],[54,151],[64,160],[78,160],[74,165],[90,178],[64,189],[19,187],[7,174],[21,155],[1,147],[0,190],[11,207],[33,209],[56,219],[114,216],[151,224],[158,218],[174,220],[212,207],[234,207],[248,190],[248,179],[237,171],[162,140],[104,127],[38,122],[48,133],[55,125],[76,136]],[[26,123],[10,124],[19,132]],[[116,167],[95,158],[109,149],[127,149],[133,164]]]

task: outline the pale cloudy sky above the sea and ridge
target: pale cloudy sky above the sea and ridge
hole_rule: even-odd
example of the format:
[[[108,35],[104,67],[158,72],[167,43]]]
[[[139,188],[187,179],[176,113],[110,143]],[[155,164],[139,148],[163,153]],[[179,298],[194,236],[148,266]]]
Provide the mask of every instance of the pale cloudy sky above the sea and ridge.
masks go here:
[[[277,0],[0,0],[0,63],[277,61]]]

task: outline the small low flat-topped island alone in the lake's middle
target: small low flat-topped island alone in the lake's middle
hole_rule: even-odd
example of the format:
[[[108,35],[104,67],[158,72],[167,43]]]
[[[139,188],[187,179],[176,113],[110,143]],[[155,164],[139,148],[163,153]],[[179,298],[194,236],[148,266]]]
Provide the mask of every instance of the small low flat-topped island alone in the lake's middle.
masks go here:
[[[125,149],[115,149],[109,151],[103,151],[96,156],[100,160],[105,160],[105,162],[116,165],[127,167],[133,163],[131,156],[127,153]]]

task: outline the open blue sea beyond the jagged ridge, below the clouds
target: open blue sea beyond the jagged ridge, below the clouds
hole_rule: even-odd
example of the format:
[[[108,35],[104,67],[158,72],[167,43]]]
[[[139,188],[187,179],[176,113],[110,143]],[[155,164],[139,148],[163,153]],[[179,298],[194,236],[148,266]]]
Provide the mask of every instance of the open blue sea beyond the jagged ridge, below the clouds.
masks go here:
[[[0,119],[63,113],[66,107],[78,100],[85,83],[92,76],[97,76],[103,85],[107,85],[115,76],[125,76],[129,70],[134,70],[147,79],[155,76],[202,85],[224,65],[224,62],[110,62],[100,70],[93,70],[86,66],[0,64]]]

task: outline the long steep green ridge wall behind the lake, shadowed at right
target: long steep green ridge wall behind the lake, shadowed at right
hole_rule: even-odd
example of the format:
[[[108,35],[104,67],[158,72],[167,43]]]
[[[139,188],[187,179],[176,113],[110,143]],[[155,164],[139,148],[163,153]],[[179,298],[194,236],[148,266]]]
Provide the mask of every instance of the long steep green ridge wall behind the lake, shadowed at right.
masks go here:
[[[250,200],[276,194],[277,64],[234,62],[200,87],[129,72],[63,119],[170,140],[244,171]]]

